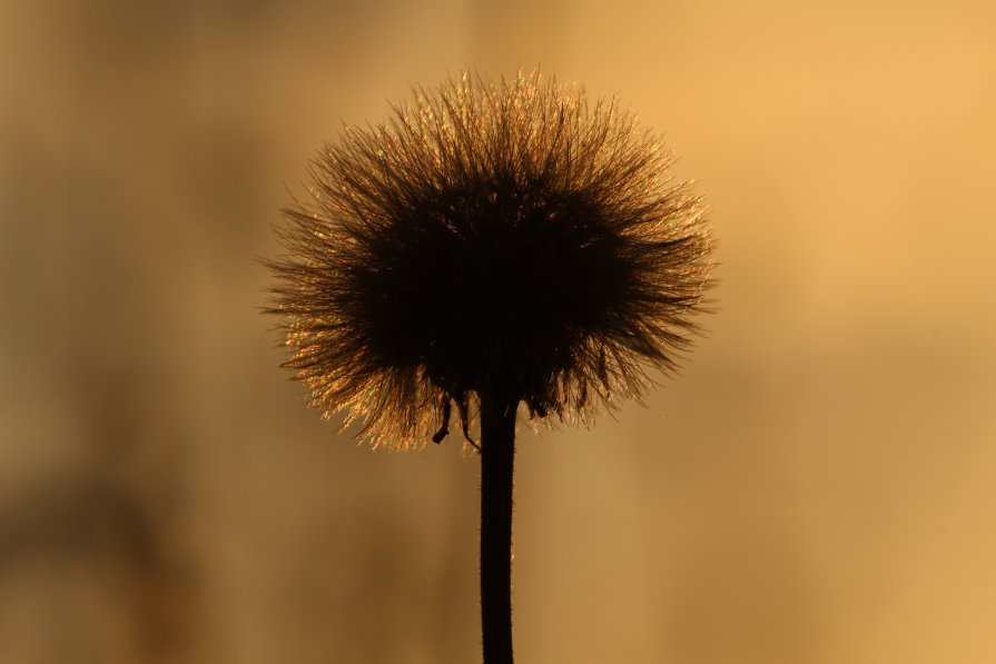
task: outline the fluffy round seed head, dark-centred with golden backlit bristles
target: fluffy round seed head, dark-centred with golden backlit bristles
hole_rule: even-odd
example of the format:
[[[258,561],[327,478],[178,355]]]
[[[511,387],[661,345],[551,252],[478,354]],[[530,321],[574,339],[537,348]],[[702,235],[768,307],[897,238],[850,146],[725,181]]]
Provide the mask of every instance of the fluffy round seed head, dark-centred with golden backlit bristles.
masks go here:
[[[712,266],[698,198],[617,102],[538,73],[465,75],[346,127],[285,210],[268,309],[309,405],[424,442],[482,394],[586,419],[640,397],[697,330]],[[437,435],[438,437],[438,435]]]

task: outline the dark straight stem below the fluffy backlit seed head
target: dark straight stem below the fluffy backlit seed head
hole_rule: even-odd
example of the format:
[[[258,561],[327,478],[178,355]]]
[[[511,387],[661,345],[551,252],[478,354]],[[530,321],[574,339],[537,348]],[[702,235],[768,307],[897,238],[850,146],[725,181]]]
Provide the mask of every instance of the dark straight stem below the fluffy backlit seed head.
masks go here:
[[[481,628],[484,664],[512,664],[512,477],[517,399],[481,397]]]

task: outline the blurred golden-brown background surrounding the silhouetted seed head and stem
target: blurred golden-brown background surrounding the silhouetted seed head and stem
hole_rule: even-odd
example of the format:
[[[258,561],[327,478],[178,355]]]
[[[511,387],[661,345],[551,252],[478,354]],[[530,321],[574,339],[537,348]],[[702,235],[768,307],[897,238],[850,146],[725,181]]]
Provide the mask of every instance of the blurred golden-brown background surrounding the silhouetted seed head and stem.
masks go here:
[[[477,462],[306,409],[255,257],[343,121],[535,65],[722,284],[648,408],[521,434],[519,661],[996,661],[996,4],[6,0],[0,662],[477,661]]]

